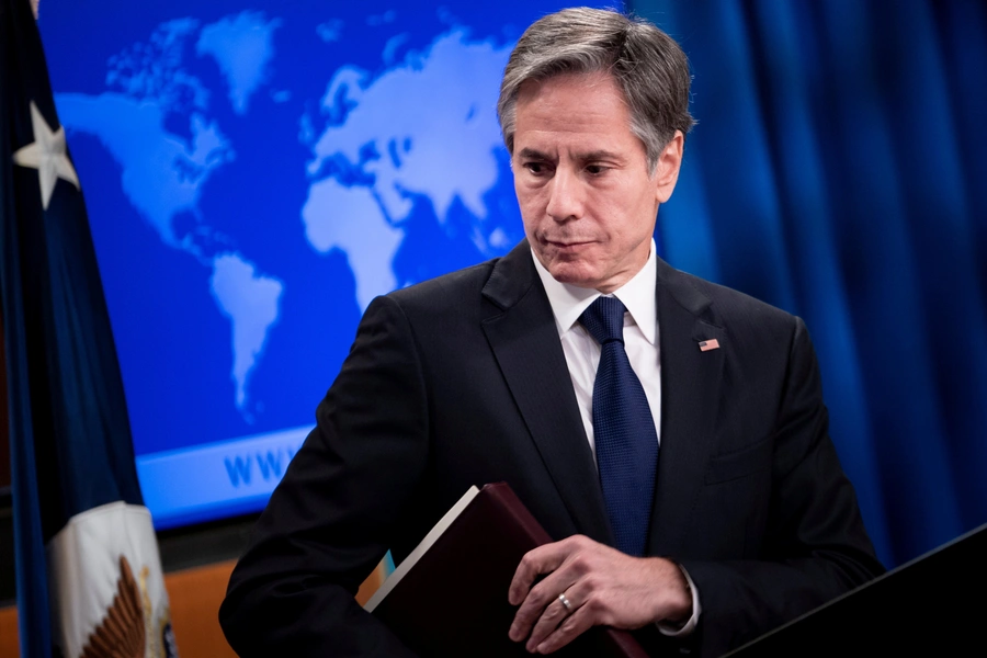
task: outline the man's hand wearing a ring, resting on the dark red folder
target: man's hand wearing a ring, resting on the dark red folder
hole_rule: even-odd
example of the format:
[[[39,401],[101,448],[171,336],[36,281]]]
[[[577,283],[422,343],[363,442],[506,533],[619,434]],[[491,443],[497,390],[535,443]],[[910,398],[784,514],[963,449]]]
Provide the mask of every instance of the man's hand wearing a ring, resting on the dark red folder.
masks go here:
[[[542,574],[548,576],[532,587]],[[631,557],[581,535],[530,551],[514,571],[508,600],[521,605],[508,635],[514,642],[527,638],[525,648],[538,654],[564,647],[590,626],[639,628],[662,620],[684,622],[692,614],[678,565]]]

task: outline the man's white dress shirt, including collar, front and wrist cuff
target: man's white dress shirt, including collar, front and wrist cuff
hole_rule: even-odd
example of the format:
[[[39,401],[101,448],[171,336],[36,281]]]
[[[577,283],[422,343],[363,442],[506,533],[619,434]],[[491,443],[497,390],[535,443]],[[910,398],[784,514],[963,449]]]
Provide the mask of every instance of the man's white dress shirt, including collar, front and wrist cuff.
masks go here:
[[[631,368],[640,379],[645,396],[648,398],[648,407],[650,407],[651,418],[655,420],[655,433],[658,435],[660,445],[661,360],[658,345],[658,307],[655,296],[655,286],[657,285],[655,249],[655,240],[651,240],[651,251],[644,268],[627,283],[606,296],[616,297],[627,309],[627,313],[624,314],[624,349],[627,352]],[[558,339],[561,341],[566,364],[569,367],[569,377],[572,379],[572,388],[576,390],[576,401],[579,405],[582,427],[586,429],[590,450],[593,451],[595,457],[593,383],[600,365],[601,348],[600,343],[579,324],[579,316],[590,304],[595,302],[597,297],[601,296],[601,293],[593,288],[578,287],[556,281],[533,251],[531,258],[534,260],[542,285],[545,286],[548,304],[552,305]],[[701,612],[699,592],[689,574],[684,569],[682,574],[692,592],[692,617],[681,628],[659,623],[658,629],[666,635],[688,635],[692,633],[699,621]]]

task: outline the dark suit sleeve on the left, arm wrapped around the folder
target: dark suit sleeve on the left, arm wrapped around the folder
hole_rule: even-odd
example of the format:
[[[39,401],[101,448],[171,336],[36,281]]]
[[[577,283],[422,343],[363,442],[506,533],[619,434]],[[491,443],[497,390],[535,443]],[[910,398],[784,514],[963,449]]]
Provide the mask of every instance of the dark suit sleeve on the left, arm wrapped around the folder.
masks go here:
[[[230,578],[219,620],[239,656],[412,655],[353,595],[413,504],[428,434],[410,326],[378,297]]]

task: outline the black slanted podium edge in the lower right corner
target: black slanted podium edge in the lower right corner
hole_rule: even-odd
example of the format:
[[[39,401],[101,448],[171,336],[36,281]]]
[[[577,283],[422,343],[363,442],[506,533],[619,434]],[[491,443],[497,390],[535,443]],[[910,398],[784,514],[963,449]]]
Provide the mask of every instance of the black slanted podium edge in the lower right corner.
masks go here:
[[[987,524],[727,656],[987,656]]]

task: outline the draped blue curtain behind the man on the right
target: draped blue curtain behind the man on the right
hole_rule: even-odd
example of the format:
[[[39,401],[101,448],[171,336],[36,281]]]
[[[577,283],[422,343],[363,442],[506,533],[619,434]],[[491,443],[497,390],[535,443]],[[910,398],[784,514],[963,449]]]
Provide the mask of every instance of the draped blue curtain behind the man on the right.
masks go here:
[[[987,4],[628,4],[694,75],[665,257],[805,318],[885,564],[987,522]]]

